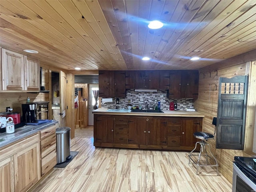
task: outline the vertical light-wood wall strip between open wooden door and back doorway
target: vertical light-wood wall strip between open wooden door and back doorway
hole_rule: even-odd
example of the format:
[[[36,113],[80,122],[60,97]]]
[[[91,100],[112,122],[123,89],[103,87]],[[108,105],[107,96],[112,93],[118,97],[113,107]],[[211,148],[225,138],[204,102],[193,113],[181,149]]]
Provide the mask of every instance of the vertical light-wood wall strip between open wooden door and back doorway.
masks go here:
[[[67,123],[66,125],[70,127],[70,138],[74,138],[75,136],[75,107],[74,107],[74,98],[75,98],[75,93],[74,93],[74,74],[67,74],[67,79],[68,79],[68,86],[67,86],[67,101],[66,104],[68,106],[67,109]]]

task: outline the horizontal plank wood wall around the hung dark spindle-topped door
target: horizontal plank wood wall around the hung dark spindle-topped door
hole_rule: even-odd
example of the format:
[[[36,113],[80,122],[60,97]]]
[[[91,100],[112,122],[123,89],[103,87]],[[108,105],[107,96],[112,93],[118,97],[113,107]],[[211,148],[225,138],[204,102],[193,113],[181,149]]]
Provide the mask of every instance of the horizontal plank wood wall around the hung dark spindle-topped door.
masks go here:
[[[198,112],[202,112],[205,115],[203,131],[211,133],[214,132],[212,118],[217,116],[218,110],[218,83],[216,83],[216,81],[218,82],[219,77],[230,78],[236,75],[245,75],[247,67],[246,63],[239,63],[241,59],[242,58],[237,58],[238,64],[236,65],[234,65],[234,62],[230,64],[230,61],[226,60],[230,66],[228,66],[226,62],[221,62],[225,67],[220,67],[220,65],[216,64],[216,66],[209,66],[200,69],[200,73],[206,72],[206,75],[205,78],[203,78],[203,75],[200,75],[198,99],[194,102],[194,107]],[[231,60],[233,61],[233,59]],[[210,77],[210,74],[207,71],[213,69],[218,70],[218,76],[216,76],[216,73],[214,72],[214,75]],[[212,83],[217,85],[217,89]],[[250,156],[250,154],[243,152],[242,150],[216,149],[215,140],[208,141],[208,143],[210,144],[212,152],[220,164],[220,173],[224,175],[230,182],[232,182],[232,170],[230,170],[230,168],[232,166],[234,156]]]

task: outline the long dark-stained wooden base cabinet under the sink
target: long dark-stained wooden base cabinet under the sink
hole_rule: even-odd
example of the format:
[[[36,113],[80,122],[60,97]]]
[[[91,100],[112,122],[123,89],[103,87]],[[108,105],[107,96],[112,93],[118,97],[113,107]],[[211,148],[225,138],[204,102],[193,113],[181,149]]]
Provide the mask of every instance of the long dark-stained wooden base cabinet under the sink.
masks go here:
[[[193,150],[200,117],[94,114],[94,146],[157,150]]]

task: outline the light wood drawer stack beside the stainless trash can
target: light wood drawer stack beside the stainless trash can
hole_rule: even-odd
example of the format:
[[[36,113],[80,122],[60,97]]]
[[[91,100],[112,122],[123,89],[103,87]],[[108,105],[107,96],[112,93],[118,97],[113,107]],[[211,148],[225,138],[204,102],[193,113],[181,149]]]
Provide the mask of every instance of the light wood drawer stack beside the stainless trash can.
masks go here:
[[[56,128],[50,126],[40,131],[41,175],[48,173],[57,164]]]

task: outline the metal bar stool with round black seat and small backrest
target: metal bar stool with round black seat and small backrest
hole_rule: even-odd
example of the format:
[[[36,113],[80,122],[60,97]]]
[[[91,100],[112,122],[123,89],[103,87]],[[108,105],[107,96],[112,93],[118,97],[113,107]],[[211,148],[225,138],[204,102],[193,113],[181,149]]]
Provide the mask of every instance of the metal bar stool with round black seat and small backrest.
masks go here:
[[[194,152],[194,150],[196,150],[196,146],[195,148],[189,153],[188,155],[188,164],[190,164],[190,160],[192,160],[192,162],[194,164],[196,164],[196,175],[198,175],[198,167],[202,167],[202,166],[212,166],[212,167],[216,167],[217,169],[217,176],[219,175],[218,173],[218,162],[217,162],[217,159],[214,157],[214,155],[212,154],[211,152],[211,147],[210,145],[205,142],[204,140],[211,140],[211,139],[214,139],[214,136],[215,136],[215,130],[216,130],[216,125],[217,125],[217,118],[214,117],[213,120],[212,120],[212,124],[215,126],[215,129],[214,129],[214,134],[210,134],[210,133],[207,133],[207,132],[195,132],[193,135],[195,138],[198,138],[198,139],[201,139],[201,141],[198,141],[196,142],[196,145],[197,144],[200,144],[200,152],[199,154],[192,154]],[[213,157],[213,159],[215,160],[216,164],[210,164],[208,162],[208,157],[211,158],[211,156],[209,156],[207,154],[207,151],[206,151],[206,146],[209,147],[209,152],[211,154],[211,156]],[[197,162],[195,162],[191,156],[198,156],[198,160]],[[200,161],[200,158],[201,156],[206,156],[206,162],[202,162],[202,160]]]

